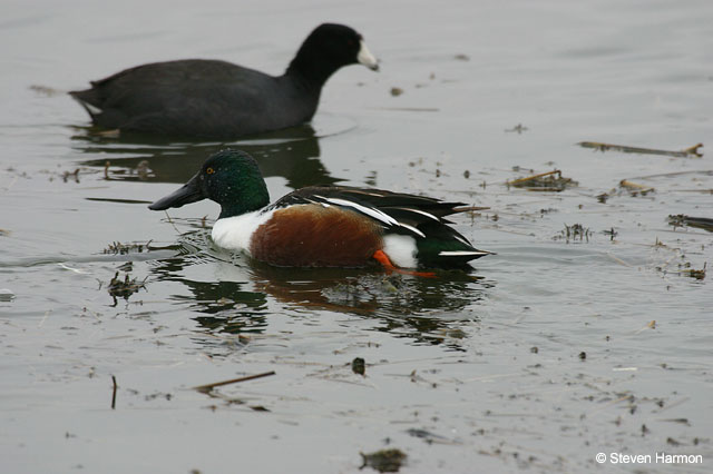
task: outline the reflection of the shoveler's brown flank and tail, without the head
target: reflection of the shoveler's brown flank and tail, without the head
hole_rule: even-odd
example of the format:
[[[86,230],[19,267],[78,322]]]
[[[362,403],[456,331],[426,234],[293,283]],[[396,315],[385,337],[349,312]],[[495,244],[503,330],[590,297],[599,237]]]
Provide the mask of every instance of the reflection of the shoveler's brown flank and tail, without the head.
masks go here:
[[[437,270],[437,278],[387,275],[379,268],[295,269],[251,260],[255,289],[287,307],[354,314],[374,322],[373,330],[414,343],[461,348],[466,320],[491,282],[462,270]]]

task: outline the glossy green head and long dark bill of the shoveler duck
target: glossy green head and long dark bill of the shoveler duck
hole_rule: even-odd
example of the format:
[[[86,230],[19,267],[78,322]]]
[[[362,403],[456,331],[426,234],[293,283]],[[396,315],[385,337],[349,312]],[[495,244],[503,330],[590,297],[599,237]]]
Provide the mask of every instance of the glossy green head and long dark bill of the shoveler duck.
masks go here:
[[[201,171],[180,189],[148,206],[165,210],[211,199],[221,205],[218,218],[240,216],[270,204],[270,195],[257,162],[245,151],[223,150],[211,156]]]

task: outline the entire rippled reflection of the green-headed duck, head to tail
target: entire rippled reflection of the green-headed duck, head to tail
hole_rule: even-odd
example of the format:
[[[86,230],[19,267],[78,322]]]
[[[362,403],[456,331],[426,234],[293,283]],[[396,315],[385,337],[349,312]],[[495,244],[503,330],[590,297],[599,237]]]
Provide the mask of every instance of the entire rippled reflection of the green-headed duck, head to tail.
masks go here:
[[[207,233],[192,231],[183,238],[203,240]],[[459,339],[465,333],[460,327],[463,322],[479,320],[478,302],[494,285],[461,270],[421,278],[385,275],[378,268],[281,268],[242,255],[224,261],[224,255],[212,251],[156,260],[152,271],[158,280],[183,284],[189,294],[174,299],[188,303],[198,314],[194,319],[201,330],[216,336],[264,333],[276,305],[287,313],[306,309],[358,315],[373,320],[373,330],[461,349]],[[192,265],[209,265],[217,280],[187,278],[186,269]]]

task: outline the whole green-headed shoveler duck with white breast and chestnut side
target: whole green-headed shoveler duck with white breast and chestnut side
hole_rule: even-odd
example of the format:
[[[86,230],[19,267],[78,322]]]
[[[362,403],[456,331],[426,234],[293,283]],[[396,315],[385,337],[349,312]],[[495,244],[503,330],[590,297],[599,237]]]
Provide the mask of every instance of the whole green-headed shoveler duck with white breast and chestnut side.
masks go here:
[[[149,206],[182,207],[208,198],[221,205],[213,241],[257,260],[293,267],[363,267],[387,270],[462,267],[488,255],[478,250],[443,217],[468,209],[462,203],[380,189],[306,187],[270,204],[255,160],[223,150],[187,184]]]

